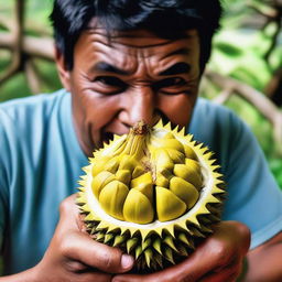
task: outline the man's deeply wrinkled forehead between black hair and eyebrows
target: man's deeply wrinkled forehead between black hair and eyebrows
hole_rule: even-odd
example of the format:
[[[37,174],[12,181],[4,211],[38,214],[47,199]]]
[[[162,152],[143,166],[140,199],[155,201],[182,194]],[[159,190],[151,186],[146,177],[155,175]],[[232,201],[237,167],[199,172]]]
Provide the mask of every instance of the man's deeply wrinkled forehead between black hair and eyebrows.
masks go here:
[[[122,42],[122,37],[120,36],[117,37],[121,39],[121,42],[116,40],[109,42],[107,36],[97,32],[97,30],[89,30],[86,37],[88,37],[88,42],[90,41],[95,53],[99,54],[97,62],[109,63],[131,74],[142,74],[143,77],[144,75],[147,77],[155,76],[166,69],[166,66],[170,67],[170,65],[173,65],[174,55],[183,54],[186,56],[192,53],[189,47],[187,47],[187,43],[189,42],[187,39],[181,40],[183,43],[181,44],[182,46],[180,46],[180,44],[173,44],[175,41],[170,41],[170,44],[169,41],[166,41],[161,44],[148,44],[140,47],[139,45]],[[165,46],[162,47],[162,45]],[[93,51],[90,50],[90,52]],[[183,57],[182,61],[185,62],[189,59]]]

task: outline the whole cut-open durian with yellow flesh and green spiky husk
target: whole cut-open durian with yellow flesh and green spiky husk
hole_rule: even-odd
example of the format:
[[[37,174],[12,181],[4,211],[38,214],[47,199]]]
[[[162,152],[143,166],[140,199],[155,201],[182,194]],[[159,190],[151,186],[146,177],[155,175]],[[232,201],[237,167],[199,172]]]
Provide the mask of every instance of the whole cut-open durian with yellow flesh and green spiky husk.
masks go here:
[[[138,122],[94,152],[77,204],[91,237],[154,271],[187,257],[220,219],[225,189],[213,153],[160,121]]]

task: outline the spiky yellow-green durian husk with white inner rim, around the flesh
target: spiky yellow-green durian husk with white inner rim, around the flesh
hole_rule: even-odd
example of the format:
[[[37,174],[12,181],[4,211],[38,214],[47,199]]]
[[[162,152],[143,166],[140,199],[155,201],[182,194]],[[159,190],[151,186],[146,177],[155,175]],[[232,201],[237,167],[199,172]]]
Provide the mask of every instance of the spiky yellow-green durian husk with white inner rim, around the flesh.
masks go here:
[[[84,167],[77,204],[85,215],[88,232],[99,242],[119,247],[137,260],[137,269],[154,271],[175,264],[193,252],[198,241],[210,232],[210,226],[220,220],[221,203],[225,196],[223,175],[218,172],[213,153],[203,144],[185,134],[184,128],[172,130],[171,124],[160,121],[154,130],[172,132],[182,143],[191,147],[202,165],[204,187],[197,203],[181,217],[169,220],[154,220],[150,224],[128,223],[108,215],[93,193],[93,166],[100,153],[107,153],[112,144],[123,142],[126,135],[115,135],[113,141],[105,144],[89,159],[90,164]]]

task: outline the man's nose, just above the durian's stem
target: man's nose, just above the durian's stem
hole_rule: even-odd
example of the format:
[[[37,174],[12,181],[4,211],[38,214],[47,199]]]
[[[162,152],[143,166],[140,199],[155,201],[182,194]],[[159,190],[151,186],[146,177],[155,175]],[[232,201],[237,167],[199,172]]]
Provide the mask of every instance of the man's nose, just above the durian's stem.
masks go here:
[[[127,94],[122,122],[132,127],[140,120],[153,126],[156,122],[158,97],[150,86],[134,87]]]

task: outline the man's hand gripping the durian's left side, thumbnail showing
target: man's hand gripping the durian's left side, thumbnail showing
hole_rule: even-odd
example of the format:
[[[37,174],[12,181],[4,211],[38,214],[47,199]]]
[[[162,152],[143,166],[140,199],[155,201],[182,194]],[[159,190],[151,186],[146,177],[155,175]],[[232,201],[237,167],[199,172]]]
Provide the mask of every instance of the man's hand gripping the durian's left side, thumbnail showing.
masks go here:
[[[42,261],[35,267],[35,281],[106,282],[111,281],[112,273],[129,271],[133,258],[93,240],[84,231],[74,200],[75,195],[61,204],[54,237]]]

